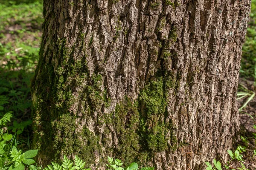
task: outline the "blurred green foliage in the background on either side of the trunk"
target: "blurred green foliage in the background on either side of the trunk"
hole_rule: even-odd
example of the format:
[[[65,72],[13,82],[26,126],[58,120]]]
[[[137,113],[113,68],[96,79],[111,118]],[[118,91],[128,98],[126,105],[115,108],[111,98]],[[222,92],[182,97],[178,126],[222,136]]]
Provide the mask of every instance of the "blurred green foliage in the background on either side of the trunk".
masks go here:
[[[16,133],[16,142],[25,149],[29,149],[32,136],[30,80],[38,61],[42,8],[43,0],[0,0],[0,116],[13,111],[8,128]],[[240,79],[255,82],[256,0],[252,0],[242,50]]]

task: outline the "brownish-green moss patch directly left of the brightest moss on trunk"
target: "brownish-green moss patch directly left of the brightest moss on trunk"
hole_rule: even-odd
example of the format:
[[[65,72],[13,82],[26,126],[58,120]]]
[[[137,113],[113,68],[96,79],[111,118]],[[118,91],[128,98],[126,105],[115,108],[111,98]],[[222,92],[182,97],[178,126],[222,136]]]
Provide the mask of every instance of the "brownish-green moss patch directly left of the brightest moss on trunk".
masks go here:
[[[131,163],[138,160],[138,153],[141,151],[139,128],[139,112],[137,102],[132,102],[128,97],[116,105],[115,113],[105,115],[108,125],[113,125],[119,140],[115,149],[116,155]]]

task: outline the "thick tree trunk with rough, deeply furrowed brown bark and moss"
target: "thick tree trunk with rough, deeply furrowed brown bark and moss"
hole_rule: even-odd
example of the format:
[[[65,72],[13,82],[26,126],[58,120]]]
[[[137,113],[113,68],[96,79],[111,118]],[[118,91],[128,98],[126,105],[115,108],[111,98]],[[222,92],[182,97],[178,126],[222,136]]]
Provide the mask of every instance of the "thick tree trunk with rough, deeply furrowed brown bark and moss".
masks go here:
[[[227,157],[249,12],[250,0],[44,0],[40,160],[197,170]]]

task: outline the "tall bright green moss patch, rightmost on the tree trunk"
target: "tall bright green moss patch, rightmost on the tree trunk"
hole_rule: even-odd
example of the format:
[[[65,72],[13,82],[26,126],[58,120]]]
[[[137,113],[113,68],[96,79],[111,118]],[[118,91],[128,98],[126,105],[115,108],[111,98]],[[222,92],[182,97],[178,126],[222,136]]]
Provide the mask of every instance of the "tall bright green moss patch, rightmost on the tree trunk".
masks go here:
[[[172,131],[172,124],[164,122],[166,117],[166,91],[174,88],[171,74],[160,73],[155,81],[151,81],[140,92],[139,102],[143,110],[140,117],[140,133],[142,140],[151,152],[161,152],[177,148],[177,141]],[[170,138],[167,134],[171,133]],[[169,145],[169,142],[172,145]]]

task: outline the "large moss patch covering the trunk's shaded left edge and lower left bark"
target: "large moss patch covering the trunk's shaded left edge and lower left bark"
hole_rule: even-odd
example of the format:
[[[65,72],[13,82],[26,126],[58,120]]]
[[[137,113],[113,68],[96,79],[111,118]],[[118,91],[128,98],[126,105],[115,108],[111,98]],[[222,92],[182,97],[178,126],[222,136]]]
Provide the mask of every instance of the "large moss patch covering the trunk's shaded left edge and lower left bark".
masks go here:
[[[103,92],[100,89],[102,75],[89,76],[86,55],[74,60],[72,55],[76,46],[68,48],[65,38],[58,39],[54,44],[57,50],[47,51],[46,54],[41,50],[40,55],[47,56],[49,53],[50,57],[58,61],[52,64],[41,59],[37,68],[40,74],[33,80],[32,91],[36,94],[34,100],[37,105],[35,115],[35,139],[37,140],[33,143],[42,150],[42,153],[52,150],[50,153],[54,154],[51,154],[49,159],[58,159],[63,154],[71,155],[79,151],[83,158],[87,159],[86,156],[89,155],[88,161],[92,162],[94,161],[92,150],[100,152],[96,145],[99,140],[86,130],[83,134],[76,133],[78,117],[70,108],[74,102],[80,102],[84,109],[81,113],[86,116],[96,109],[95,105],[102,105]],[[84,46],[81,45],[78,48],[83,50]],[[85,83],[86,86],[84,86]],[[80,87],[79,90],[82,92],[78,97],[73,97],[73,92],[76,91],[73,87]],[[87,135],[86,139],[81,139],[83,135]],[[95,142],[96,139],[97,142]],[[81,150],[86,140],[88,145],[84,145]]]

